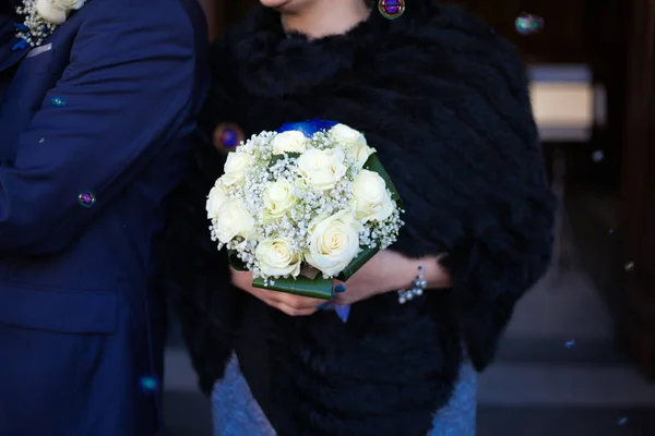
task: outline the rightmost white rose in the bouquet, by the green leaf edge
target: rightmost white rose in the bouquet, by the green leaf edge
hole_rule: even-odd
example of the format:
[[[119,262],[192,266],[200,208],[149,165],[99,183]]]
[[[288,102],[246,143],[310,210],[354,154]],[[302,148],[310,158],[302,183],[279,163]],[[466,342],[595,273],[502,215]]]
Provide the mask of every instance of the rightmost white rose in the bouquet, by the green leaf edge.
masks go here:
[[[393,214],[394,202],[384,179],[377,172],[361,170],[353,181],[355,217],[365,221],[383,221]]]

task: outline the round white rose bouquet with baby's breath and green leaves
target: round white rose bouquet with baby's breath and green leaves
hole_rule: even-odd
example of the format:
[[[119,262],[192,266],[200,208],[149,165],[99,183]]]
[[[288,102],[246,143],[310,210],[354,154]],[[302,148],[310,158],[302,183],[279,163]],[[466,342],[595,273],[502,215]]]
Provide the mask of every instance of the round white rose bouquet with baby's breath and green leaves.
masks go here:
[[[285,124],[241,143],[207,196],[212,240],[253,286],[330,300],[395,242],[402,202],[360,132]]]

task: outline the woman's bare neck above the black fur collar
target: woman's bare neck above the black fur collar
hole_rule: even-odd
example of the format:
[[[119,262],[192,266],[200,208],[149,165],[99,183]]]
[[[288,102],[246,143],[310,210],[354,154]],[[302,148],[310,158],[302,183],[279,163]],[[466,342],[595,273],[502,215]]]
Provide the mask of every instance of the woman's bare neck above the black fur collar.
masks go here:
[[[318,39],[345,34],[365,21],[369,13],[364,1],[317,1],[298,11],[283,11],[282,25],[287,33]]]

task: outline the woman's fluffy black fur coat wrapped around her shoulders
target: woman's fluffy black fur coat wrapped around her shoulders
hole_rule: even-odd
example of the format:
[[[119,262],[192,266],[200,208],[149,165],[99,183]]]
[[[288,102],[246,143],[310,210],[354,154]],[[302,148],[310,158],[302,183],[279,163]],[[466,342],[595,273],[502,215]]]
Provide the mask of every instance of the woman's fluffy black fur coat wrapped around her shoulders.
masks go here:
[[[282,436],[425,435],[463,355],[477,370],[491,362],[515,302],[549,264],[553,197],[516,50],[458,9],[407,3],[398,20],[373,10],[313,41],[258,9],[213,47],[214,88],[168,226],[167,287],[201,386],[236,350]],[[448,253],[451,290],[405,305],[376,296],[343,324],[334,313],[287,317],[229,286],[204,210],[225,158],[212,131],[313,118],[366,133],[405,203],[392,250]]]

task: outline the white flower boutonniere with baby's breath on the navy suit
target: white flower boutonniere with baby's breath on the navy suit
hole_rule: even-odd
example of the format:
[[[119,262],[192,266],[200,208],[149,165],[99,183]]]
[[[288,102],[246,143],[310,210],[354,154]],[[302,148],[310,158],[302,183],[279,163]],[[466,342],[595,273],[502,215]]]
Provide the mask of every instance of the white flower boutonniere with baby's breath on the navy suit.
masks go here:
[[[86,0],[23,0],[23,5],[16,8],[16,12],[25,21],[16,25],[16,36],[21,41],[14,49],[40,46],[57,26],[63,24],[84,3]]]

